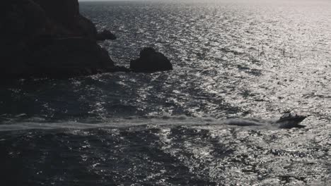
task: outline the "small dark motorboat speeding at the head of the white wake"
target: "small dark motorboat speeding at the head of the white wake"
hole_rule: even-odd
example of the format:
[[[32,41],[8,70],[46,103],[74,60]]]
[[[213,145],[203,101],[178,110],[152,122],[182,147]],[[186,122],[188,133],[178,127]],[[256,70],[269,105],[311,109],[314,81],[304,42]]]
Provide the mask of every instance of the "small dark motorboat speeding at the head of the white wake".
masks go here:
[[[305,125],[299,125],[307,116],[298,116],[291,112],[285,113],[276,123],[279,123],[279,128],[304,128]]]

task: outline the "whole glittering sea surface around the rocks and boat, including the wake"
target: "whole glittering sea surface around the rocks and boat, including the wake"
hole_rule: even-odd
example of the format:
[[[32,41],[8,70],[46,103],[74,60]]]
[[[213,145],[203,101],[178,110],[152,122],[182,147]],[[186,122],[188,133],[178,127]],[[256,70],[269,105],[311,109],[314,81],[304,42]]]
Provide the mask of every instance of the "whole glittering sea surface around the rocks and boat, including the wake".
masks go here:
[[[174,70],[2,82],[1,182],[330,185],[330,10],[330,1],[81,3],[117,35],[100,42],[117,64],[153,46]],[[279,129],[284,111],[309,115],[306,128]]]

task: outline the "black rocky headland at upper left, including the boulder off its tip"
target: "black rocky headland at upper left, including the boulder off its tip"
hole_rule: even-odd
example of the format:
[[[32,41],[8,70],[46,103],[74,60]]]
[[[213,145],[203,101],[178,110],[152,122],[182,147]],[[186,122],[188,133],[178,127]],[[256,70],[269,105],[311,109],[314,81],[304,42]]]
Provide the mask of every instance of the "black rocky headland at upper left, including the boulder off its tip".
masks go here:
[[[134,63],[134,69],[115,66],[108,51],[97,43],[116,39],[115,35],[107,30],[98,33],[91,20],[79,13],[78,0],[11,0],[2,2],[0,11],[3,78],[63,78],[172,69],[157,66],[161,56],[158,53],[149,54],[147,63],[156,61],[154,69],[144,69],[144,60]],[[165,61],[164,58],[161,59]]]

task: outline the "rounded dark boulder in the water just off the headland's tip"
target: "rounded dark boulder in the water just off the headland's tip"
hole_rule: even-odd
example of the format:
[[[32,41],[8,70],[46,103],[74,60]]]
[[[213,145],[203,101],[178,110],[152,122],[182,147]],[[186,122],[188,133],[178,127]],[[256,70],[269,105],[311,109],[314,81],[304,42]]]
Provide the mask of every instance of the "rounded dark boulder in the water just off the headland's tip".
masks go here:
[[[140,51],[139,58],[130,62],[130,69],[134,72],[152,73],[173,70],[173,65],[163,54],[147,47]]]

